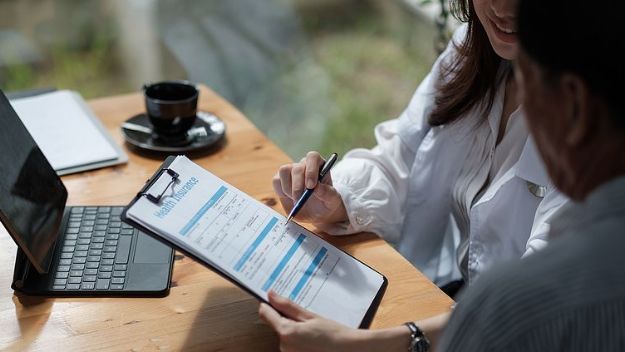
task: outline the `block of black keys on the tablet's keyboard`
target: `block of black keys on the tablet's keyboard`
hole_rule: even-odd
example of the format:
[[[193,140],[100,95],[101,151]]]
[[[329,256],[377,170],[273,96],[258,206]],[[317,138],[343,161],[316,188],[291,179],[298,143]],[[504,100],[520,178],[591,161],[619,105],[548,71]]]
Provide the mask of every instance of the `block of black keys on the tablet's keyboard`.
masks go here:
[[[135,229],[121,222],[123,207],[72,207],[52,289],[123,290]]]

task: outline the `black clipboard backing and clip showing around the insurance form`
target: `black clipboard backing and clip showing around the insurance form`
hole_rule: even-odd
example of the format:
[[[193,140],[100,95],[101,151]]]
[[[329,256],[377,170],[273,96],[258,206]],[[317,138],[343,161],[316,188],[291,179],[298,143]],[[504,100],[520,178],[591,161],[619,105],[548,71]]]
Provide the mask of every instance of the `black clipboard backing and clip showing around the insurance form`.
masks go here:
[[[163,176],[164,174],[168,174],[169,177],[172,178],[172,180],[175,180],[178,177],[178,174],[175,172],[175,170],[171,170],[169,167],[171,165],[171,163],[176,159],[177,156],[175,155],[171,155],[168,156],[167,159],[165,159],[165,161],[163,162],[163,164],[161,164],[161,166],[158,168],[158,170],[156,170],[156,172],[154,172],[154,174],[152,175],[152,177],[150,177],[147,181],[146,184],[143,186],[143,188],[141,188],[141,190],[137,193],[137,195],[132,199],[132,201],[130,203],[128,203],[128,205],[126,207],[124,207],[124,211],[121,214],[121,219],[123,222],[132,225],[136,228],[138,228],[139,230],[141,230],[142,232],[152,236],[153,238],[155,238],[156,240],[176,249],[177,251],[183,253],[184,255],[188,256],[189,258],[192,258],[193,260],[195,260],[196,262],[204,265],[205,267],[207,267],[208,269],[216,272],[217,274],[219,274],[221,277],[225,278],[226,280],[232,282],[233,284],[235,284],[236,286],[238,286],[239,288],[243,289],[245,292],[249,293],[250,295],[252,295],[253,297],[255,297],[257,300],[259,300],[260,302],[265,302],[267,304],[269,304],[269,302],[267,302],[267,300],[265,300],[263,297],[257,295],[254,291],[252,291],[250,288],[248,288],[246,285],[242,284],[241,282],[239,282],[236,278],[228,275],[228,273],[222,271],[219,268],[214,267],[213,265],[205,262],[204,260],[202,260],[201,258],[199,258],[198,256],[194,255],[193,253],[191,253],[189,250],[187,250],[186,248],[184,248],[183,246],[180,246],[177,243],[174,243],[172,241],[170,241],[169,239],[167,239],[164,236],[161,236],[159,233],[154,232],[152,230],[147,229],[146,227],[144,227],[143,225],[135,222],[134,220],[128,218],[127,216],[127,211],[130,207],[132,207],[140,198],[142,197],[147,197],[148,199],[150,199],[150,197],[152,197],[152,199],[150,199],[152,202],[156,201],[158,202],[160,200],[160,196],[162,196],[161,192],[156,192],[156,193],[150,193],[150,188],[152,187],[152,185],[160,179],[161,176]],[[159,196],[160,195],[160,196]],[[299,225],[298,225],[299,226]],[[327,242],[324,240],[324,242],[329,245],[332,246],[334,248],[336,248],[334,245],[332,245],[331,243]],[[388,286],[388,279],[386,278],[386,276],[384,276],[383,274],[381,274],[380,272],[378,272],[377,270],[373,269],[372,267],[370,267],[369,265],[363,263],[362,261],[360,261],[359,259],[353,257],[352,255],[346,253],[345,251],[343,251],[340,248],[337,248],[339,251],[343,252],[345,255],[354,258],[354,260],[358,261],[359,263],[363,264],[364,266],[368,267],[369,269],[375,271],[376,273],[378,273],[380,276],[382,276],[382,285],[380,286],[380,288],[378,289],[378,292],[376,293],[374,299],[372,300],[369,309],[367,310],[367,312],[365,313],[362,321],[360,322],[359,328],[364,329],[364,328],[368,328],[369,325],[371,325],[371,321],[373,320],[373,316],[375,315],[380,302],[382,300],[382,297],[384,296],[384,293],[386,291],[386,287]]]

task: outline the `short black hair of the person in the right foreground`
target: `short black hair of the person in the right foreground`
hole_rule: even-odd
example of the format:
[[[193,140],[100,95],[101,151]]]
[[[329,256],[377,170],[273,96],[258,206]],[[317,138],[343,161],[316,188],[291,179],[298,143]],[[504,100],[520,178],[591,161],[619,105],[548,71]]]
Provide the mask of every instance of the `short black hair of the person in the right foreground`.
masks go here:
[[[579,76],[622,128],[625,63],[616,53],[625,48],[624,13],[623,0],[521,0],[518,10],[522,50],[551,75]]]

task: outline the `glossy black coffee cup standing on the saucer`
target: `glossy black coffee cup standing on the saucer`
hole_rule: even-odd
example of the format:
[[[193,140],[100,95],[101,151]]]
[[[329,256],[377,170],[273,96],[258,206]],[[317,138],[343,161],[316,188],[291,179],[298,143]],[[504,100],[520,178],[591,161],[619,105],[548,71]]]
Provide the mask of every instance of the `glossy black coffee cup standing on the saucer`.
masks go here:
[[[186,137],[197,118],[197,87],[187,81],[163,81],[143,86],[145,109],[154,132],[164,138]]]

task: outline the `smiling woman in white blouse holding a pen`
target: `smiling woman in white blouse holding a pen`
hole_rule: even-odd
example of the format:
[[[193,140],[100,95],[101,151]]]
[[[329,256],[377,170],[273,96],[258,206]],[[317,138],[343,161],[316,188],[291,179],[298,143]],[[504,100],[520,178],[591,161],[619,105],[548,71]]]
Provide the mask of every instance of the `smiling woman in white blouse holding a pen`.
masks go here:
[[[544,246],[565,202],[548,182],[516,101],[514,1],[452,1],[467,22],[408,108],[350,151],[298,213],[333,234],[374,232],[432,281],[454,288],[502,259]],[[274,189],[289,211],[317,184],[311,152],[284,165]]]

